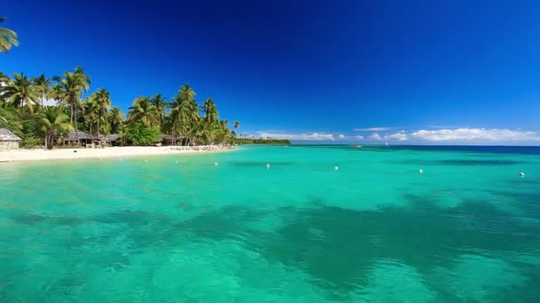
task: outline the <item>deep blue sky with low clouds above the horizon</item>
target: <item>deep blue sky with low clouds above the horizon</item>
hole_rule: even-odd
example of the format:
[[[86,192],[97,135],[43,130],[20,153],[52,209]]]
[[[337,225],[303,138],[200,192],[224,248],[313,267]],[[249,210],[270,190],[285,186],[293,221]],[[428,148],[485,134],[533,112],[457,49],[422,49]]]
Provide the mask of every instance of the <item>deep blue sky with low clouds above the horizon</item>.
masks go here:
[[[83,66],[91,90],[189,83],[243,134],[306,142],[540,144],[535,1],[4,0],[4,73]]]

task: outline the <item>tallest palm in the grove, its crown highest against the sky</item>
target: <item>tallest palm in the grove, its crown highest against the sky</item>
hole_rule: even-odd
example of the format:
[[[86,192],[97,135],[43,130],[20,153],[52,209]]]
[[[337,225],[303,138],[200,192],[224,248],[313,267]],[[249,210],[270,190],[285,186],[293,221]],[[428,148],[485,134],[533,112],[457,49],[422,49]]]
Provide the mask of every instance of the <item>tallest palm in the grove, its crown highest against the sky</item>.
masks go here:
[[[76,113],[81,106],[80,98],[82,97],[83,92],[90,89],[90,77],[83,73],[83,67],[77,66],[75,67],[75,73],[65,72],[64,78],[56,76],[53,79],[58,82],[65,92],[64,97],[67,105],[70,107],[69,123],[73,126],[73,122],[75,121],[75,139],[78,143],[79,138]]]

